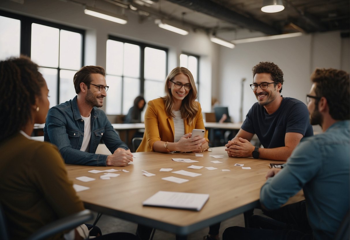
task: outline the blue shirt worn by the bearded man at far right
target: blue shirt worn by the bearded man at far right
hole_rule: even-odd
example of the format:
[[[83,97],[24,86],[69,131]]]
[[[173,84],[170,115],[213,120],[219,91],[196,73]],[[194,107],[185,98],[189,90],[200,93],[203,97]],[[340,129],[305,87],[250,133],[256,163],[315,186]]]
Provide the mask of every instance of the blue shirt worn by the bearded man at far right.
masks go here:
[[[260,191],[260,203],[277,209],[303,189],[314,239],[332,239],[350,202],[350,121],[303,137],[284,168]]]

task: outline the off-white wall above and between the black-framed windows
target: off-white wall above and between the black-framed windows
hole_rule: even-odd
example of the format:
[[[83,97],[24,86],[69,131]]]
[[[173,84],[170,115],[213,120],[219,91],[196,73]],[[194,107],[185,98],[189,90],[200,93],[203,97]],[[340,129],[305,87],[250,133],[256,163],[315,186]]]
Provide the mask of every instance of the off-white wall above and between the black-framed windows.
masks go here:
[[[113,5],[96,6],[112,11]],[[128,23],[121,25],[84,14],[83,7],[60,0],[26,0],[24,4],[0,1],[0,9],[51,22],[86,29],[85,65],[106,66],[106,40],[109,34],[146,42],[169,49],[168,72],[179,65],[182,51],[200,56],[200,103],[203,112],[211,110],[211,80],[217,79],[218,45],[206,33],[182,36],[159,28],[153,19],[139,22],[138,15],[127,13]],[[215,71],[213,71],[215,69]],[[214,87],[216,89],[216,86]],[[162,95],[160,93],[160,95]]]

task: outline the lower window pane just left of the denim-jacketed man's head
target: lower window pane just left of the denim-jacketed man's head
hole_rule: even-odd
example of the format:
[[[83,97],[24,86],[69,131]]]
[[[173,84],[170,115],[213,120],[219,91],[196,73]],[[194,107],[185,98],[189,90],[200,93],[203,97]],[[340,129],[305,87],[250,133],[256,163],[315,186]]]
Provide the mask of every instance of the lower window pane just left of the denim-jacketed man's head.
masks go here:
[[[75,92],[73,77],[76,71],[59,71],[59,102],[64,103],[73,99],[77,94]]]

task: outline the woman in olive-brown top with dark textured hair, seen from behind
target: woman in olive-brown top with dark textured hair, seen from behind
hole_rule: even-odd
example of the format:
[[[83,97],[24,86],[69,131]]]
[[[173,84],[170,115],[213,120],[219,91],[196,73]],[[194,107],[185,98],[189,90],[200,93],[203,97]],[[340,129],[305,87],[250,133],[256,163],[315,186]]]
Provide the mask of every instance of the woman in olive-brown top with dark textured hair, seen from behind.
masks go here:
[[[38,66],[30,58],[0,62],[0,203],[9,239],[27,239],[45,224],[84,210],[57,147],[30,139],[34,123],[45,122],[48,93]],[[83,239],[86,233],[87,227],[81,235],[72,230],[52,239]],[[109,237],[138,239],[130,233],[96,239]]]

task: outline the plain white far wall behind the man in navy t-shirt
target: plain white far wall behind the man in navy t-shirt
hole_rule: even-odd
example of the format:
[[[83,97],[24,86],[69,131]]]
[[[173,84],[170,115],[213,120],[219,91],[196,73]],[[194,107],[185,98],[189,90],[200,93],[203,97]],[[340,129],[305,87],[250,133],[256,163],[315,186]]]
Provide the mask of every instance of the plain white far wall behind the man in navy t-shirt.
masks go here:
[[[293,97],[305,103],[311,87],[310,75],[316,67],[349,71],[348,39],[341,39],[340,33],[335,31],[237,44],[232,50],[222,47],[219,55],[221,105],[229,106],[231,119],[239,121],[240,81],[247,78],[244,83],[245,119],[248,110],[257,101],[249,84],[253,82],[251,69],[260,61],[274,62],[283,71],[283,97]]]

